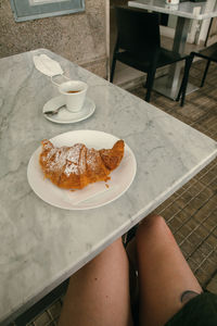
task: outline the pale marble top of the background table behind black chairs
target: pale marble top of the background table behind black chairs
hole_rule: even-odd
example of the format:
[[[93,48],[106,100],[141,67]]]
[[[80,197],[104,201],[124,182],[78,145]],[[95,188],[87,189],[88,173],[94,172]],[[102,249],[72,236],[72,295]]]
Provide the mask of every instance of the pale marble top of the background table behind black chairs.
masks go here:
[[[204,2],[187,1],[170,5],[164,0],[135,0],[128,1],[128,5],[199,21],[217,16],[216,0]]]

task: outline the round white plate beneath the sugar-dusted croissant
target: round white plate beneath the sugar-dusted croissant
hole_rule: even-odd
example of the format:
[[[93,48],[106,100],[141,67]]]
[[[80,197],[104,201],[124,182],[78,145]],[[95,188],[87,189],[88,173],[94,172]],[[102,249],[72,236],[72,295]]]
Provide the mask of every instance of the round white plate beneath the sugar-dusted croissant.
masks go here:
[[[99,150],[112,148],[118,138],[98,130],[76,130],[61,134],[50,140],[56,147],[82,142],[88,148]],[[88,210],[112,202],[129,188],[137,171],[135,155],[125,143],[125,155],[119,166],[111,173],[111,180],[106,181],[108,187],[104,181],[99,181],[88,185],[81,190],[71,191],[56,187],[43,177],[39,165],[40,152],[41,147],[34,152],[29,160],[27,168],[28,183],[35,193],[43,201],[65,210]]]

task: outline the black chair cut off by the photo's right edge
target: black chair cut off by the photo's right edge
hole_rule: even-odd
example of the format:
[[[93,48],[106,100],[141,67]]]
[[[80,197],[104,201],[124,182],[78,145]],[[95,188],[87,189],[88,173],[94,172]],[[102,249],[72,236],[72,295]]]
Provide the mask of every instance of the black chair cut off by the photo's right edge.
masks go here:
[[[177,97],[177,101],[180,100],[180,97],[181,97],[181,102],[184,102],[184,97],[186,97],[186,89],[187,89],[187,84],[188,84],[188,79],[189,79],[189,72],[190,72],[190,68],[191,68],[191,65],[192,65],[192,62],[194,60],[194,57],[200,57],[202,59],[205,59],[207,60],[207,63],[206,63],[206,67],[205,67],[205,71],[204,71],[204,74],[203,74],[203,78],[202,78],[202,82],[201,82],[201,87],[204,86],[204,83],[205,83],[205,79],[206,79],[206,75],[207,75],[207,72],[208,72],[208,67],[209,67],[209,64],[210,62],[216,62],[217,63],[217,42],[199,51],[199,52],[191,52],[190,54],[190,61],[189,61],[189,66],[188,66],[188,70],[187,72],[184,73],[184,78],[186,78],[186,85],[181,85],[180,87],[180,90],[179,90],[179,93],[178,93],[178,97]]]

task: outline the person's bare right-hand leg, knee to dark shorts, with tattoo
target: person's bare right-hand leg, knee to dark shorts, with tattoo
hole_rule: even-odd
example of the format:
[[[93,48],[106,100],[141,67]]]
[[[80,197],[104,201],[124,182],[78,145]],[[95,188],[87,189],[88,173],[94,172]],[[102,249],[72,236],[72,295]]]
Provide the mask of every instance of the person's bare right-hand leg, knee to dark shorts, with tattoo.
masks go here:
[[[140,325],[163,326],[202,288],[162,216],[144,218],[137,236]],[[195,293],[195,294],[196,294]],[[187,300],[186,300],[187,301]]]

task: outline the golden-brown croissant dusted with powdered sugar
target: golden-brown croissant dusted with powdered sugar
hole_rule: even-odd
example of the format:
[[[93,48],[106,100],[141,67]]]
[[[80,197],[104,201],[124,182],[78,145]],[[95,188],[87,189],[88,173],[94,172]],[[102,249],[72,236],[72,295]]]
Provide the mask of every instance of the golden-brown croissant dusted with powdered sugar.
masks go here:
[[[82,189],[89,184],[106,181],[124,156],[124,140],[112,149],[88,149],[84,143],[54,147],[48,139],[41,141],[39,163],[44,177],[64,189]]]

